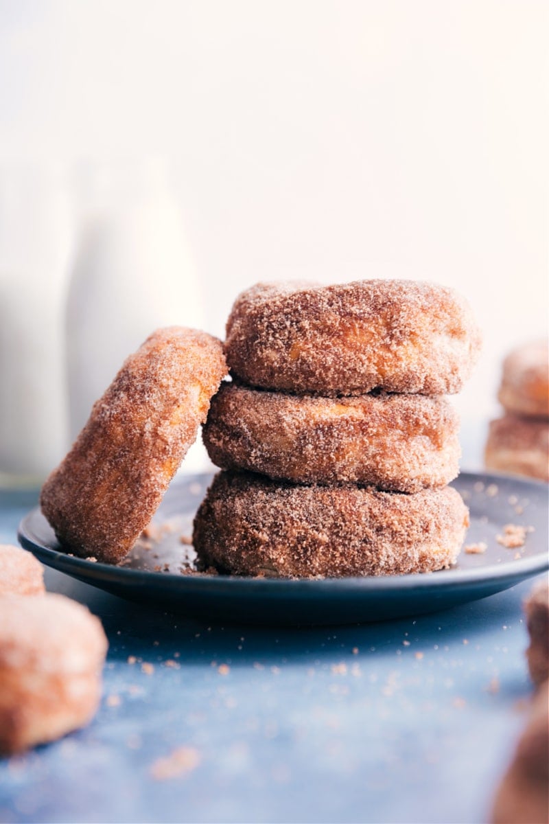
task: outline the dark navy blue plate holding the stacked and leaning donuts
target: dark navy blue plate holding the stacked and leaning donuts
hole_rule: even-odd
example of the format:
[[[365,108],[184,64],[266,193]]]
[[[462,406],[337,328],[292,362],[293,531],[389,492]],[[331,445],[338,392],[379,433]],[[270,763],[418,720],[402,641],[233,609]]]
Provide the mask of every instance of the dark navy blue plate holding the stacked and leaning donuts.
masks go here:
[[[43,564],[114,595],[209,621],[268,625],[356,624],[437,611],[513,587],[549,567],[547,485],[463,472],[453,486],[471,512],[465,545],[482,541],[486,551],[462,552],[452,569],[323,580],[193,574],[193,514],[211,479],[175,480],[152,534],[140,538],[118,566],[63,553],[40,509],[21,521],[19,541]],[[509,523],[531,527],[522,547],[505,548],[496,540]]]

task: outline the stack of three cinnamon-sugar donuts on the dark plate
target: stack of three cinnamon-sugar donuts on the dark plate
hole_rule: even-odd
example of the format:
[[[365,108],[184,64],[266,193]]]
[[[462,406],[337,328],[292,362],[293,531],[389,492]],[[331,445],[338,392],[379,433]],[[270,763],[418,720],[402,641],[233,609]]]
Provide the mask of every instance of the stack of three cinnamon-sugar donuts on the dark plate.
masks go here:
[[[222,572],[338,577],[454,563],[468,510],[458,392],[480,335],[467,302],[413,281],[258,284],[226,330],[232,382],[203,440],[216,475],[194,521]]]

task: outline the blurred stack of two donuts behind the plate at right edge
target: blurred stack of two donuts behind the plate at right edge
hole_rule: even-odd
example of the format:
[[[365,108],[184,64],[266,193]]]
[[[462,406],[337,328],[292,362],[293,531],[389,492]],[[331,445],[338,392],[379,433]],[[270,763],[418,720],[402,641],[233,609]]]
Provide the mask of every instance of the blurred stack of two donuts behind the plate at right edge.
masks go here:
[[[549,349],[524,344],[503,363],[498,400],[505,414],[491,421],[488,469],[549,480]]]

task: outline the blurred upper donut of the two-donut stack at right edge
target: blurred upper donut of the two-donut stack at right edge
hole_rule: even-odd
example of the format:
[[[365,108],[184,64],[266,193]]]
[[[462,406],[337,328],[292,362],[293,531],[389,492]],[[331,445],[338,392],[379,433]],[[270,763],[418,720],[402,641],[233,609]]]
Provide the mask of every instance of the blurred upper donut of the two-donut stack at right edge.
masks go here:
[[[524,344],[505,358],[500,404],[508,412],[549,417],[549,349],[547,340]]]

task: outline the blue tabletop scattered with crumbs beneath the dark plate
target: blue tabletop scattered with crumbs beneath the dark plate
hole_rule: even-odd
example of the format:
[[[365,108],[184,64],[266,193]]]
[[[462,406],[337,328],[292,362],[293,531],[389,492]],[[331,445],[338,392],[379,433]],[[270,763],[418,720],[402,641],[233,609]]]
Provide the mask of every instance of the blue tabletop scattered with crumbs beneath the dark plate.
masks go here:
[[[36,494],[0,494],[16,542]],[[333,629],[207,625],[46,570],[109,636],[91,725],[0,761],[0,822],[486,822],[532,686],[533,582]]]

